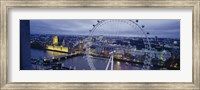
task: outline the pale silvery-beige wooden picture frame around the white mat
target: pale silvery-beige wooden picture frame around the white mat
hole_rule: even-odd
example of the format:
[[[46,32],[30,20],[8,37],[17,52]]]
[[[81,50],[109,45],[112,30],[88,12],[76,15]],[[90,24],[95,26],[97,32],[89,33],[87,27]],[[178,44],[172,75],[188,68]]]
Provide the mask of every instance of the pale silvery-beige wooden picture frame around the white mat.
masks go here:
[[[1,0],[0,76],[1,89],[200,89],[200,1],[199,0]],[[11,8],[192,8],[192,83],[185,82],[8,82],[9,31]]]

